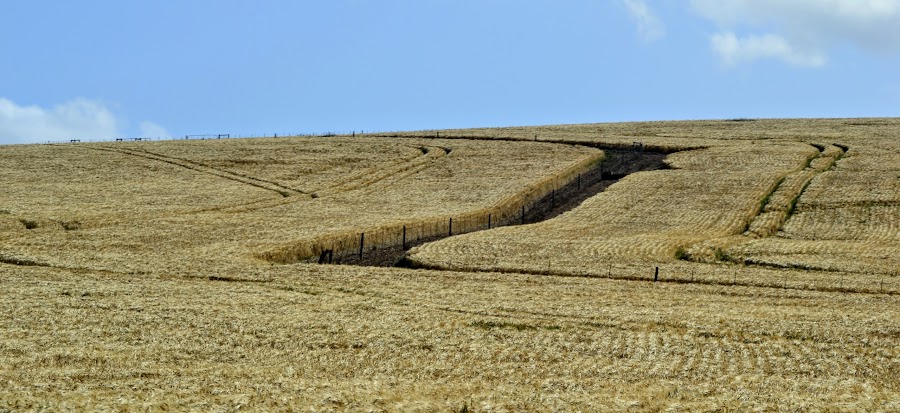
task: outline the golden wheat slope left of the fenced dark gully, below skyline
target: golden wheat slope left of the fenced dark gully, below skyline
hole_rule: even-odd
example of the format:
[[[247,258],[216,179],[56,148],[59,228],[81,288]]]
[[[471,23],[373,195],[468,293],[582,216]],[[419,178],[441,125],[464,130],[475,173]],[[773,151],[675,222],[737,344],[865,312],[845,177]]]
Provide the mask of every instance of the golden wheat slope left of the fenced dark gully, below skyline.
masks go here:
[[[0,234],[0,254],[68,268],[190,274],[198,268],[243,268],[261,259],[293,262],[324,248],[350,253],[360,232],[372,246],[383,246],[400,241],[403,225],[410,237],[425,238],[445,233],[449,218],[456,218],[456,233],[480,228],[491,212],[499,222],[521,202],[602,157],[595,149],[546,143],[260,141],[271,152],[276,178],[311,158],[337,166],[311,179],[314,184],[299,186],[247,174],[245,166],[259,158],[256,140],[3,148],[10,152],[6,157],[19,159],[12,167],[32,168],[3,175],[10,190],[0,194],[0,205],[9,211],[0,215],[0,228],[7,229]],[[334,161],[342,154],[354,161]],[[360,158],[365,161],[355,161]],[[95,179],[57,173],[58,159]],[[28,182],[43,184],[23,184]],[[153,192],[159,186],[166,189]],[[103,214],[93,211],[98,203]],[[21,220],[46,225],[26,229]],[[77,222],[78,230],[66,231],[63,222]]]

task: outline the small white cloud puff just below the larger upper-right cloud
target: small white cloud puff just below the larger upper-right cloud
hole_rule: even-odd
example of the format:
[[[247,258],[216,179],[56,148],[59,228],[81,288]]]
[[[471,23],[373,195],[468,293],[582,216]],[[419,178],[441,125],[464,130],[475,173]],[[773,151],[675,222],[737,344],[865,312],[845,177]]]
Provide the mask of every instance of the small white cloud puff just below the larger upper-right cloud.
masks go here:
[[[774,34],[738,38],[731,32],[719,33],[712,36],[712,47],[728,66],[766,58],[806,67],[819,67],[826,62],[824,55],[796,50],[783,37]]]

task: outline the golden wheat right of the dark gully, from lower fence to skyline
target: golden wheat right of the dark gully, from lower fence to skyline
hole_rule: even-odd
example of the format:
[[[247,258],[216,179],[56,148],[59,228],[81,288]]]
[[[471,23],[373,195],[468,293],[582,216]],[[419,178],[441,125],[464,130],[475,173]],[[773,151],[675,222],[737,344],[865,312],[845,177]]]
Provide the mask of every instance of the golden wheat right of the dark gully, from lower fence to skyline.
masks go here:
[[[628,177],[564,216],[423,246],[432,268],[604,276],[675,259],[826,271],[896,291],[900,130],[893,119],[754,120],[447,131],[659,148],[675,170]],[[741,272],[753,272],[739,270]],[[642,270],[640,272],[645,272]],[[803,273],[799,273],[802,278]],[[808,284],[808,283],[806,283]],[[840,284],[840,283],[839,283]],[[863,287],[863,285],[867,287]],[[830,287],[823,287],[830,288]]]

